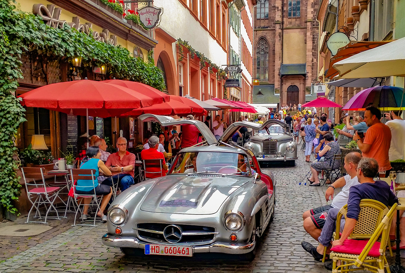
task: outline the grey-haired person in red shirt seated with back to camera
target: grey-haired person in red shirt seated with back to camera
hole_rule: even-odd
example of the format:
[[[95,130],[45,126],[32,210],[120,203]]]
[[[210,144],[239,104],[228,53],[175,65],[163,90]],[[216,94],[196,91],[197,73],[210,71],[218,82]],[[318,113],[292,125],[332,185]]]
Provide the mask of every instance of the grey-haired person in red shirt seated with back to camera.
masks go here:
[[[166,161],[164,161],[164,155],[162,152],[158,152],[159,147],[159,138],[156,135],[152,135],[149,140],[149,149],[144,149],[141,151],[141,158],[143,160],[147,159],[162,159],[162,172],[160,172],[159,167],[147,167],[146,171],[155,172],[156,174],[146,173],[145,178],[156,178],[160,176],[165,176],[168,166],[166,165]]]

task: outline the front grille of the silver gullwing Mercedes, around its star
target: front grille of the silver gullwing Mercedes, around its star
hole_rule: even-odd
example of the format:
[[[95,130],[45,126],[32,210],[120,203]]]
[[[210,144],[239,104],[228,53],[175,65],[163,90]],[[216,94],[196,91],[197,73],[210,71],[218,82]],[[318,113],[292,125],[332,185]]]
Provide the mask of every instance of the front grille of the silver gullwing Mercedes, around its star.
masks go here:
[[[168,243],[164,238],[164,229],[171,224],[164,223],[139,223],[134,228],[138,231],[141,239],[153,241],[156,243]],[[194,226],[185,224],[175,224],[181,228],[182,238],[177,244],[204,244],[209,243],[214,239],[215,228],[211,226]]]

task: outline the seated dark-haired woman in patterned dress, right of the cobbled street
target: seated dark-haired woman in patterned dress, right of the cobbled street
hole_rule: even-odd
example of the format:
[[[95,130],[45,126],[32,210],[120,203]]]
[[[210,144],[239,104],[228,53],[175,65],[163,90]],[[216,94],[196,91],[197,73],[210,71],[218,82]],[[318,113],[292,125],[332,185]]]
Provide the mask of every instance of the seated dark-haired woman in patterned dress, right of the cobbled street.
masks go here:
[[[339,169],[341,166],[340,160],[334,160],[335,154],[340,154],[339,144],[334,141],[335,137],[331,133],[324,134],[324,139],[320,144],[324,143],[324,148],[319,152],[320,157],[325,157],[325,161],[314,162],[311,164],[312,176],[308,178],[310,186],[320,186],[321,183],[318,174],[323,169]]]

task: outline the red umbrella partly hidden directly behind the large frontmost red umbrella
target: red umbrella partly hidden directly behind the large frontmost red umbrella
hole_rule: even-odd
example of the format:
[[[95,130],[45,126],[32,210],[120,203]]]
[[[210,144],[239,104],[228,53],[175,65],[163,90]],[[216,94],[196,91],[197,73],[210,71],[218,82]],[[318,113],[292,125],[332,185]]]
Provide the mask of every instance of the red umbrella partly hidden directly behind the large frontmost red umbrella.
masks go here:
[[[110,83],[113,85],[119,85],[122,87],[129,88],[133,91],[136,91],[137,94],[146,95],[153,99],[151,105],[160,104],[163,102],[168,102],[170,100],[170,95],[159,91],[156,88],[153,88],[149,85],[143,83],[132,82],[130,80],[104,80],[103,83]],[[149,106],[151,106],[149,105]],[[147,106],[147,105],[144,105]]]

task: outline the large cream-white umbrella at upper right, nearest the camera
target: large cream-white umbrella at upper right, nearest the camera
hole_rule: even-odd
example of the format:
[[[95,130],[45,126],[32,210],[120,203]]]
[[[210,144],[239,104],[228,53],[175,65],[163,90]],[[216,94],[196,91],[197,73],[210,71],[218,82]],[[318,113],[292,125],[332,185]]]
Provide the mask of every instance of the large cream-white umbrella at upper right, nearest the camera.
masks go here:
[[[404,76],[405,38],[338,61],[333,68],[341,78]]]

